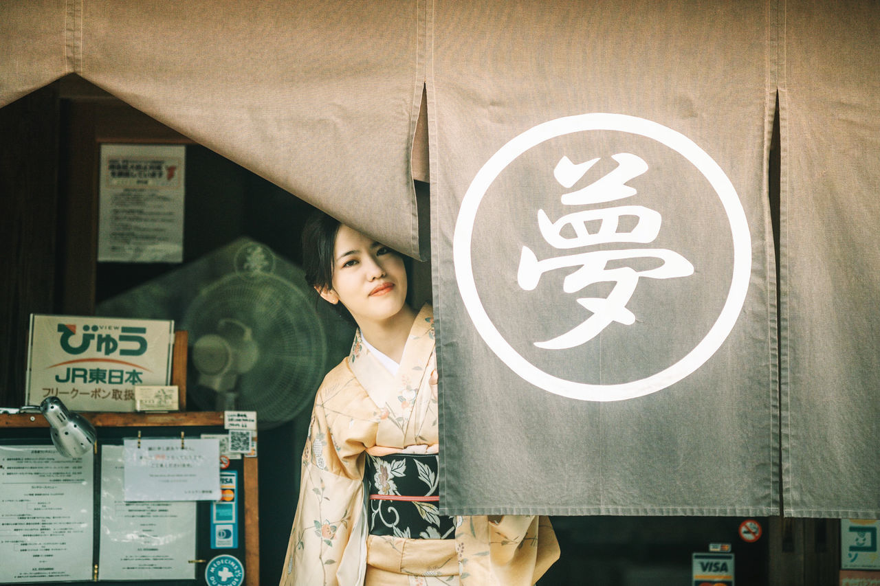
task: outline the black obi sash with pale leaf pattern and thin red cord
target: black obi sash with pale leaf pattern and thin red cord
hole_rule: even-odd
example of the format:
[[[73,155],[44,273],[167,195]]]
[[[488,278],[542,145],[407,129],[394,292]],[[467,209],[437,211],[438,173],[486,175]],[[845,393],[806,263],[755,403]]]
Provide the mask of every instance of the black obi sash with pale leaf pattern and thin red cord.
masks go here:
[[[370,535],[411,539],[455,538],[455,522],[440,515],[436,454],[367,454]]]

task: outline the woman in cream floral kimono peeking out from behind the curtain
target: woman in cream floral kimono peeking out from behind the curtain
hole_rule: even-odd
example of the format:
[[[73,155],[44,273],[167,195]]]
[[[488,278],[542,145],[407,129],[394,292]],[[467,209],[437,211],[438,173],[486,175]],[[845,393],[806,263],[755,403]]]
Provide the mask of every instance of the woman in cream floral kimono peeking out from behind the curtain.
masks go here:
[[[326,215],[305,278],[358,326],[315,397],[282,586],[528,586],[559,557],[539,516],[441,516],[433,314],[390,248]]]

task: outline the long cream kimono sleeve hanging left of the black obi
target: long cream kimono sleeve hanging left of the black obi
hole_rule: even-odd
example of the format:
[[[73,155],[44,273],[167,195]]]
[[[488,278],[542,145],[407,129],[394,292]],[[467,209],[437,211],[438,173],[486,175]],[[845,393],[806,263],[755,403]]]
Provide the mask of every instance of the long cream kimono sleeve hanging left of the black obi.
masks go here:
[[[315,398],[282,586],[363,583],[363,437],[375,424],[347,412],[344,394],[322,386]]]

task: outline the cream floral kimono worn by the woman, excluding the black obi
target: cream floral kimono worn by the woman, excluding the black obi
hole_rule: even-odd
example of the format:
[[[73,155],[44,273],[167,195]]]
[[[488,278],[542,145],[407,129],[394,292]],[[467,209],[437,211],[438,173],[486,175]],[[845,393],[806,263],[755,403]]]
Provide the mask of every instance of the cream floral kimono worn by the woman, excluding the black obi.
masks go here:
[[[527,586],[559,557],[546,517],[450,519],[438,516],[432,502],[395,504],[416,506],[428,524],[448,520],[447,532],[454,531],[454,538],[437,538],[434,529],[421,531],[424,538],[410,536],[396,527],[391,534],[370,534],[373,509],[364,494],[365,460],[436,452],[436,387],[432,392],[429,384],[433,364],[434,319],[426,305],[409,333],[397,375],[364,346],[360,332],[348,358],[327,374],[303,452],[282,586]],[[402,466],[412,463],[387,462],[373,462],[373,480],[380,493],[393,499],[395,480],[405,480]],[[410,478],[425,488],[436,485],[430,471],[417,465],[418,474]]]

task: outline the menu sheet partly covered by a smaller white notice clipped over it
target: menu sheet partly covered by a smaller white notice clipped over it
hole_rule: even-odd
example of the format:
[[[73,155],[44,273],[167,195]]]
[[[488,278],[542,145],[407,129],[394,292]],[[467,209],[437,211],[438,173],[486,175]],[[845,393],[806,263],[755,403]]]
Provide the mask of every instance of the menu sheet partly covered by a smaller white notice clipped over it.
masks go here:
[[[180,441],[178,441],[180,448]],[[216,467],[216,464],[215,464]],[[100,580],[193,580],[195,503],[124,502],[121,445],[101,453]]]

